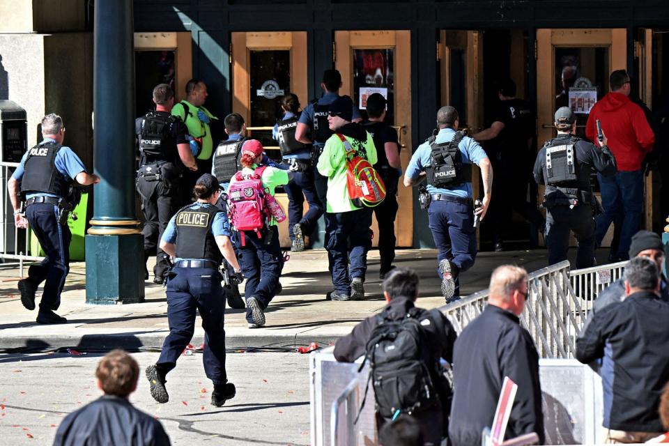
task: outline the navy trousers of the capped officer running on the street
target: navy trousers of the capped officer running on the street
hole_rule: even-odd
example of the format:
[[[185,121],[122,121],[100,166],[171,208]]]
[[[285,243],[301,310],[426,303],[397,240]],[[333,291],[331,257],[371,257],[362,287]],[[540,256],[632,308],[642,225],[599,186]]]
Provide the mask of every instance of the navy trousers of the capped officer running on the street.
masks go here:
[[[221,275],[213,268],[173,268],[167,281],[167,322],[169,334],[162,344],[157,364],[169,371],[195,332],[195,313],[199,310],[204,329],[203,364],[214,384],[227,382],[225,372],[225,298]]]

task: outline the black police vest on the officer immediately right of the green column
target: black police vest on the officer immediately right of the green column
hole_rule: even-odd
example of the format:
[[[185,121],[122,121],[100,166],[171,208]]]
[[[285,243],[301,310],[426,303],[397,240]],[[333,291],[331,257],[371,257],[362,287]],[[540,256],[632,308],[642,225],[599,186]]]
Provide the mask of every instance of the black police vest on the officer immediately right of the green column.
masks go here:
[[[176,116],[159,112],[148,112],[144,116],[139,133],[139,150],[145,162],[174,161],[176,144],[174,141],[170,144],[169,134],[176,119]]]

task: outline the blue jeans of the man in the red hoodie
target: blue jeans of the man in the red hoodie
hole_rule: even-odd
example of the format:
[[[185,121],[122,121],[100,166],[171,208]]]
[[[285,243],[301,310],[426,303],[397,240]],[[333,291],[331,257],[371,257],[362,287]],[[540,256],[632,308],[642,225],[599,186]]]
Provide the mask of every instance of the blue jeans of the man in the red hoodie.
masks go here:
[[[643,209],[643,171],[619,171],[614,176],[597,174],[601,190],[601,207],[604,212],[597,217],[595,239],[601,244],[608,226],[622,220],[617,256],[628,255],[632,236],[639,230]],[[621,215],[622,213],[622,215]]]

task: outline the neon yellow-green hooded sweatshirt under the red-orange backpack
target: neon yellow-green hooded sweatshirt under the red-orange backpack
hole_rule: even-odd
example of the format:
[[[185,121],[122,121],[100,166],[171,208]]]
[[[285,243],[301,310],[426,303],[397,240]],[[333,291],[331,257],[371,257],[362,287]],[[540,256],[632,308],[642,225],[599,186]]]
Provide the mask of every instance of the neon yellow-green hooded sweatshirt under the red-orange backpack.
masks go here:
[[[344,135],[351,147],[355,150],[355,155],[360,155],[369,164],[376,164],[376,147],[371,134],[364,130],[362,125],[357,123],[348,123],[337,129],[337,133]],[[351,198],[348,196],[348,187],[346,185],[346,148],[341,139],[333,134],[328,141],[325,141],[323,153],[318,158],[318,171],[323,176],[328,177],[328,195],[327,209],[328,213],[342,213],[357,210],[353,206]]]

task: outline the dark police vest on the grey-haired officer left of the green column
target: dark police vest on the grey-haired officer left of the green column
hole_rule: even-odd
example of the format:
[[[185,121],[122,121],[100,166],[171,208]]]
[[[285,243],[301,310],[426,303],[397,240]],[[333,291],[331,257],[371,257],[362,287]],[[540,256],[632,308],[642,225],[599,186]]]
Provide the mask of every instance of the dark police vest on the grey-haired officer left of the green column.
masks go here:
[[[56,142],[47,142],[38,144],[28,151],[24,164],[25,173],[21,181],[23,199],[26,199],[28,192],[45,192],[61,198],[67,197],[72,180],[67,181],[56,169],[56,153],[61,147]]]

